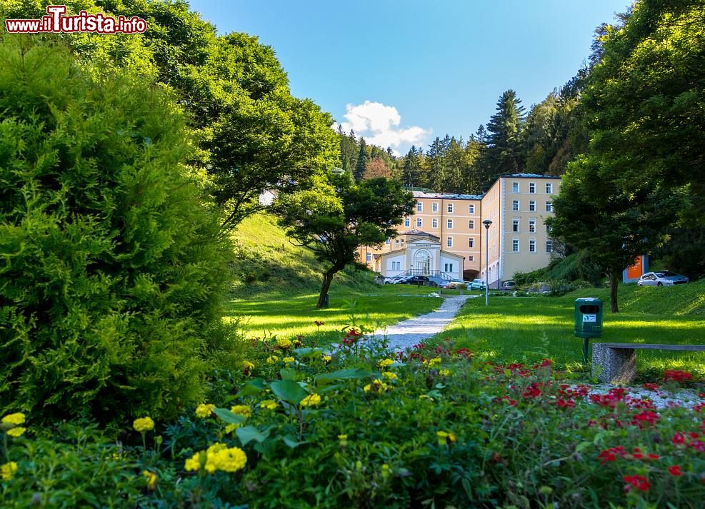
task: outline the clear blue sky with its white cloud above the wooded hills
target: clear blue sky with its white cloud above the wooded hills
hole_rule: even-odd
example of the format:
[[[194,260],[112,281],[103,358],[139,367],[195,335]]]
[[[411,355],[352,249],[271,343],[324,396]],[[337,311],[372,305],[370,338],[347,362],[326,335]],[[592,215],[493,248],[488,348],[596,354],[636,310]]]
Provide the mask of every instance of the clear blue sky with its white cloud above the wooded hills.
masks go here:
[[[220,34],[272,46],[291,91],[395,151],[474,133],[514,89],[529,109],[571,79],[629,0],[191,0]]]

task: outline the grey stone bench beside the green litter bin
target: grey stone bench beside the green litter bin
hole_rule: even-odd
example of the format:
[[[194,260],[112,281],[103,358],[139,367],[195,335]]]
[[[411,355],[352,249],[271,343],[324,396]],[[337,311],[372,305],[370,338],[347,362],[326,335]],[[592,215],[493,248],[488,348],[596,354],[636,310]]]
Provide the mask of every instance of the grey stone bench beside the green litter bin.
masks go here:
[[[681,350],[705,352],[704,345],[658,345],[644,343],[592,343],[592,376],[604,383],[631,383],[636,375],[637,350]]]

